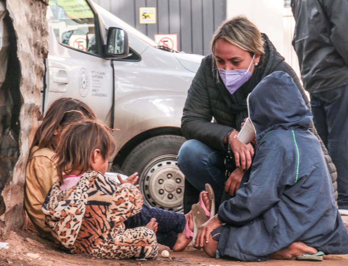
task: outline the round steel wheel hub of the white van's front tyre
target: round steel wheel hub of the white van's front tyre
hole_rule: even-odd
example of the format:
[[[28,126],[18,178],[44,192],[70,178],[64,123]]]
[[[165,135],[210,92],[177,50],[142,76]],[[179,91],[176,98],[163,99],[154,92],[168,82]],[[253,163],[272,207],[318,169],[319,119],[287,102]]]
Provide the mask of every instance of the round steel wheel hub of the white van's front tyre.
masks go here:
[[[176,155],[153,159],[140,175],[145,202],[168,211],[183,211],[185,177],[177,167]]]

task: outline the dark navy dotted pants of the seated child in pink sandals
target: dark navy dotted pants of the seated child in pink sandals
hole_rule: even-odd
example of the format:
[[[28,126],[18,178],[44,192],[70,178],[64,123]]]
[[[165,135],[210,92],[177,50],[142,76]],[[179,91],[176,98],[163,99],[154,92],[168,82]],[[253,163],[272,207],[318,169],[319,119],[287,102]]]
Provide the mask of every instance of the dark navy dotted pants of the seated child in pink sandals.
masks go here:
[[[182,213],[165,211],[163,209],[149,207],[143,204],[140,213],[129,217],[125,221],[126,229],[147,225],[151,218],[156,218],[158,230],[156,233],[157,242],[173,249],[177,241],[177,235],[185,228],[185,215]]]

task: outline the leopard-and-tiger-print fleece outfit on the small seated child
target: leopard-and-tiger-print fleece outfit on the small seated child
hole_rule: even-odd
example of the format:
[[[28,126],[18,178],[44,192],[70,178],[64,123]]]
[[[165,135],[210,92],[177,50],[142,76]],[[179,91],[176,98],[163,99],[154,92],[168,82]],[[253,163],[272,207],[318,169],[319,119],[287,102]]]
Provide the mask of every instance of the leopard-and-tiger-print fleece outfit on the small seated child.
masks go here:
[[[100,172],[84,173],[77,185],[60,190],[60,181],[49,190],[42,211],[56,241],[71,253],[98,258],[153,258],[158,245],[147,227],[125,229],[124,221],[141,211],[139,189],[116,182]]]

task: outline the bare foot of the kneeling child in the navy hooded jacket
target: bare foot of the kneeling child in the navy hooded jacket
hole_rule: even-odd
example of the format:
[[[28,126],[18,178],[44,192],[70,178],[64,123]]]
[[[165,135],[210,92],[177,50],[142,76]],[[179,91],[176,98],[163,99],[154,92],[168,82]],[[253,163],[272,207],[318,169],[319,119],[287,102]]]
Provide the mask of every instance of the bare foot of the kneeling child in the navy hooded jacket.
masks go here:
[[[316,254],[318,251],[303,242],[294,242],[285,249],[281,249],[271,255],[271,259],[294,260],[304,254]]]

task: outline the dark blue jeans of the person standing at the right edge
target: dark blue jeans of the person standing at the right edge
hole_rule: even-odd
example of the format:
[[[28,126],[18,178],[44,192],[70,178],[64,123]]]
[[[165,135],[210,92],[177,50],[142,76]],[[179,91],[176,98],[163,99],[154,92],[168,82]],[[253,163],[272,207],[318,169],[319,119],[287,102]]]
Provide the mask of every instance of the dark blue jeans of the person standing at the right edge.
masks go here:
[[[348,84],[311,93],[313,122],[337,169],[338,207],[348,210]]]

